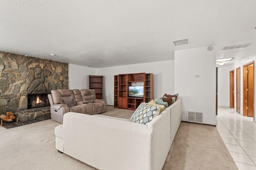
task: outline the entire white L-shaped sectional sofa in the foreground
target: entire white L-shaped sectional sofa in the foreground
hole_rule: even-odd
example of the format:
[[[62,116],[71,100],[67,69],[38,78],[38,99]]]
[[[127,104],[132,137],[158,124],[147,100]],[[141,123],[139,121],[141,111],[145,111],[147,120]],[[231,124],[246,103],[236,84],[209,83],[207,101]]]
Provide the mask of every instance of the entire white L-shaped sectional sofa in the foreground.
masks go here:
[[[56,149],[100,170],[161,170],[181,121],[181,99],[146,125],[69,112],[55,128]]]

